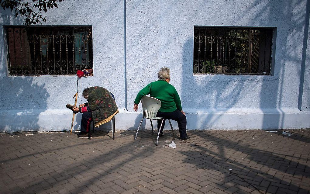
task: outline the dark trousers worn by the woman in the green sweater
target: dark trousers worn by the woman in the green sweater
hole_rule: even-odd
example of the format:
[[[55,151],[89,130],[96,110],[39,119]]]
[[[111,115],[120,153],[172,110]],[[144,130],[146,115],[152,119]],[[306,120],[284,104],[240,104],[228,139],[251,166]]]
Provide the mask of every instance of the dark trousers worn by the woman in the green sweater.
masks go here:
[[[159,131],[160,125],[162,123],[162,129],[160,130],[160,133],[162,133],[162,130],[164,129],[166,119],[172,119],[178,122],[179,125],[179,132],[180,132],[180,138],[186,138],[186,116],[179,110],[175,110],[173,112],[157,112],[158,117],[163,117],[164,121],[162,123],[162,120],[157,120],[157,130]]]

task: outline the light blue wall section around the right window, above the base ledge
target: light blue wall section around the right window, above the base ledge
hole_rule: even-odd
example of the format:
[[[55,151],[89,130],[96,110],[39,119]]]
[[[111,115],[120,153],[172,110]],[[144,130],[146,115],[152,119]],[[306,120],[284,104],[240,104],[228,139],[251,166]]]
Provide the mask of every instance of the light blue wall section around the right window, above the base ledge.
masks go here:
[[[305,3],[127,1],[128,102],[165,65],[184,108],[297,107]],[[194,25],[277,27],[275,75],[193,75]]]

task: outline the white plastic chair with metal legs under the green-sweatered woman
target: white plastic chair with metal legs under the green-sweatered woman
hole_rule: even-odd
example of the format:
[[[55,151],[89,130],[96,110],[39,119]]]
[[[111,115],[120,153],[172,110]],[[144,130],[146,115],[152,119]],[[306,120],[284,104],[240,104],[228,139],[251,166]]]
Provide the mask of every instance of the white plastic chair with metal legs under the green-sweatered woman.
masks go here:
[[[144,96],[141,98],[141,103],[142,103],[142,109],[143,109],[143,117],[142,120],[139,124],[139,127],[137,129],[137,133],[135,136],[135,140],[137,140],[137,136],[138,136],[138,132],[139,129],[141,127],[142,121],[144,118],[149,119],[151,121],[151,126],[152,126],[152,135],[154,135],[154,129],[153,129],[153,123],[152,120],[162,120],[162,123],[164,122],[164,118],[163,117],[157,117],[157,112],[160,109],[160,107],[162,106],[162,102],[160,102],[160,100],[153,98],[153,97],[148,97],[148,96]],[[169,124],[172,130],[172,134],[173,134],[173,140],[175,140],[174,137],[174,133],[173,133],[173,128],[172,128],[172,124],[169,120]],[[162,129],[162,124],[160,125],[160,128]],[[157,141],[156,141],[156,145],[158,145],[158,138],[159,138],[159,132],[157,134]]]

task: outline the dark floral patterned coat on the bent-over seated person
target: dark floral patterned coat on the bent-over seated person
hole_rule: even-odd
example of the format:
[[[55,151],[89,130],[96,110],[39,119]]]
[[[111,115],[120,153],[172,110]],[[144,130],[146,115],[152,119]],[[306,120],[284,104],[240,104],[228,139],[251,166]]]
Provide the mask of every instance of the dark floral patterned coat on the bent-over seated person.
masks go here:
[[[118,113],[115,100],[105,88],[89,87],[87,101],[95,127],[107,123]]]

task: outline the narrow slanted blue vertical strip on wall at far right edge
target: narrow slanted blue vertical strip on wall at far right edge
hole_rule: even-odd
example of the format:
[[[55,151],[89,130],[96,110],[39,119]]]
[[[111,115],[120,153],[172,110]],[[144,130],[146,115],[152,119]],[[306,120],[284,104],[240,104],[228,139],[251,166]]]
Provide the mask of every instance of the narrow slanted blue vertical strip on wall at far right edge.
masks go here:
[[[301,69],[300,69],[300,80],[299,80],[299,93],[298,93],[298,109],[301,110],[302,100],[303,100],[303,82],[305,76],[305,66],[306,66],[306,55],[307,55],[307,43],[308,43],[308,30],[309,30],[309,15],[310,15],[310,0],[307,0],[306,5],[306,17],[305,17],[305,27],[303,33],[303,52],[301,58]]]

